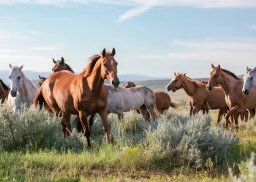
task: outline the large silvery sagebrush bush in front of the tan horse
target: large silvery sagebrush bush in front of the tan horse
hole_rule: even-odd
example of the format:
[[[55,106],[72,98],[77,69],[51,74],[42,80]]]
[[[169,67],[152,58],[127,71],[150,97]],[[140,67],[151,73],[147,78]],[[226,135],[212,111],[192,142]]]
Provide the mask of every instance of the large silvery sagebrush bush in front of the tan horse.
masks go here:
[[[223,127],[212,127],[210,115],[197,114],[192,118],[162,117],[156,129],[146,131],[146,141],[155,159],[169,160],[175,166],[202,167],[208,157],[225,162],[227,149],[238,143],[238,138]]]

